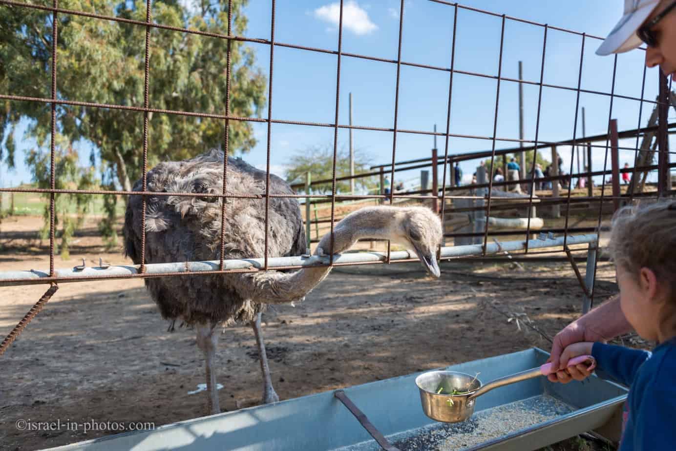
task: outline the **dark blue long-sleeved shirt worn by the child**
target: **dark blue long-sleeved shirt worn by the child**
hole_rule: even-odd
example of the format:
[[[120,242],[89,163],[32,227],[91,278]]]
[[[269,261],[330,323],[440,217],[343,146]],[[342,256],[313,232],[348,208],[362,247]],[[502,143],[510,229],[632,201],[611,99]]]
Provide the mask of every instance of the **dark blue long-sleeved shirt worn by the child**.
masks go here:
[[[594,343],[592,355],[600,376],[629,387],[619,451],[676,449],[676,339],[652,352]]]

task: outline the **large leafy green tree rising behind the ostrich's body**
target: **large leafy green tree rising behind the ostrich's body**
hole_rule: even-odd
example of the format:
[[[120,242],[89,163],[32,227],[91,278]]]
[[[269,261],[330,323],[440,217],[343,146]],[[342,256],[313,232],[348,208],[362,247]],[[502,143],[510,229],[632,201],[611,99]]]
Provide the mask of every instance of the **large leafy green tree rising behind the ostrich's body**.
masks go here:
[[[226,0],[156,0],[155,23],[228,34]],[[233,1],[233,34],[243,35],[247,0]],[[59,7],[104,16],[145,21],[142,0],[62,0]],[[26,97],[51,97],[52,14],[24,7],[0,8],[0,92]],[[145,26],[59,14],[57,97],[143,107]],[[157,109],[224,114],[227,41],[222,38],[151,28],[149,34],[149,106]],[[256,67],[253,49],[231,41],[230,113],[260,115],[267,80]],[[49,147],[49,103],[2,101],[0,163],[14,165],[14,128],[30,120],[27,134],[41,149]],[[87,140],[101,159],[104,186],[132,188],[143,173],[143,112],[58,105],[57,131],[69,142]],[[230,121],[228,150],[249,151],[256,140],[249,122]],[[185,159],[224,147],[224,120],[149,113],[148,167],[166,159]],[[70,152],[74,152],[72,149]],[[94,158],[94,155],[91,155]],[[35,165],[39,159],[29,158]],[[75,159],[74,161],[77,161]],[[47,166],[49,172],[49,166]],[[114,212],[113,200],[106,205]],[[112,213],[111,213],[112,214]],[[107,220],[114,223],[114,217]]]

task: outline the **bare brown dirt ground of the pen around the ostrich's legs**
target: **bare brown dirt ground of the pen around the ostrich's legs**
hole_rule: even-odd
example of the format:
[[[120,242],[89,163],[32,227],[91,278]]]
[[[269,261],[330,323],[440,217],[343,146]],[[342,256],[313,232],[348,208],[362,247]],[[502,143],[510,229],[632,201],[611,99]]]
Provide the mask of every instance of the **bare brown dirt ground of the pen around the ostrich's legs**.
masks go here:
[[[40,225],[39,217],[3,221],[0,271],[49,267],[47,243],[16,233]],[[118,250],[105,253],[99,238],[85,234],[75,238],[70,259],[56,257],[55,264],[74,266],[84,258],[96,266],[99,257],[125,262]],[[1,288],[1,337],[46,289]],[[599,263],[597,299],[615,292],[612,265]],[[523,269],[442,263],[438,280],[417,263],[341,267],[305,302],[266,314],[264,338],[276,392],[289,399],[532,346],[549,350],[541,334],[521,323],[519,330],[513,319],[529,319],[554,336],[579,316],[581,300],[567,263],[523,263]],[[224,410],[260,400],[255,344],[247,326],[228,327],[220,336],[217,379],[224,386]],[[169,332],[141,280],[62,284],[0,362],[1,450],[119,432],[20,431],[19,419],[159,426],[206,415],[205,394],[189,394],[204,383],[195,332]],[[597,449],[575,443],[556,450]]]

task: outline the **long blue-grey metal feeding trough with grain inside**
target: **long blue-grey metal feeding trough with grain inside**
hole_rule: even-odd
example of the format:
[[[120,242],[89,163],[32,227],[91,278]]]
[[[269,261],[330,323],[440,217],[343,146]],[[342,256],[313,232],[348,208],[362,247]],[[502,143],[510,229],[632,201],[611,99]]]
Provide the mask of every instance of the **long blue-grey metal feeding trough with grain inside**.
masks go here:
[[[453,365],[484,380],[539,367],[537,348]],[[55,450],[535,450],[585,431],[618,440],[627,389],[592,376],[565,385],[546,377],[474,398],[474,415],[437,423],[423,413],[416,377],[394,377],[275,404],[124,433]]]

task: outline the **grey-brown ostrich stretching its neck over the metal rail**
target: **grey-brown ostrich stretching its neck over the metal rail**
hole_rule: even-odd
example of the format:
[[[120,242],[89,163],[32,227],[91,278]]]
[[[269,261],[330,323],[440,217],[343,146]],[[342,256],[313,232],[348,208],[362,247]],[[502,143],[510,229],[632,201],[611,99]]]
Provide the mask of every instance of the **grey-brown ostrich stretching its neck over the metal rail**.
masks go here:
[[[147,174],[154,192],[195,192],[203,196],[148,196],[145,263],[220,259],[223,153],[211,151],[185,161],[160,163]],[[265,192],[266,173],[239,158],[228,158],[226,194]],[[139,180],[135,191],[142,190]],[[294,194],[270,174],[271,194]],[[142,196],[130,196],[125,221],[125,252],[141,263]],[[264,198],[226,198],[224,259],[262,257],[265,243]],[[270,198],[268,257],[306,253],[306,236],[295,198]],[[412,246],[423,266],[439,277],[436,250],[441,222],[425,207],[367,207],[350,213],[334,228],[335,253],[360,238],[387,238]],[[320,241],[316,255],[330,252],[331,234]],[[209,413],[220,413],[214,359],[218,325],[248,323],[253,327],[263,373],[263,402],[279,401],[272,388],[263,343],[260,314],[266,304],[302,300],[331,271],[312,267],[292,273],[267,271],[222,275],[147,278],[145,285],[165,319],[181,319],[197,329],[197,346],[206,361]]]

